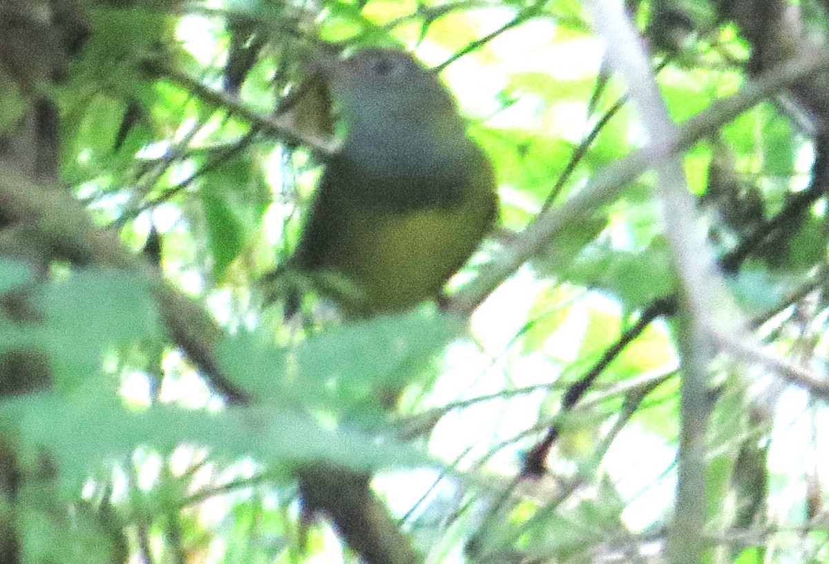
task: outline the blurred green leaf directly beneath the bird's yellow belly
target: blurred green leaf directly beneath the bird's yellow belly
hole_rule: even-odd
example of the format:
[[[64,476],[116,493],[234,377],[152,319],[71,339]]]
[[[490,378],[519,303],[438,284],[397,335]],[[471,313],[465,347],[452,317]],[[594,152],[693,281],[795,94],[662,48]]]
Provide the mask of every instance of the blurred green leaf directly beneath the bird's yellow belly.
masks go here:
[[[223,369],[255,398],[329,412],[380,410],[378,390],[410,383],[460,330],[452,317],[415,311],[347,323],[294,349],[242,334],[225,337],[216,351]]]

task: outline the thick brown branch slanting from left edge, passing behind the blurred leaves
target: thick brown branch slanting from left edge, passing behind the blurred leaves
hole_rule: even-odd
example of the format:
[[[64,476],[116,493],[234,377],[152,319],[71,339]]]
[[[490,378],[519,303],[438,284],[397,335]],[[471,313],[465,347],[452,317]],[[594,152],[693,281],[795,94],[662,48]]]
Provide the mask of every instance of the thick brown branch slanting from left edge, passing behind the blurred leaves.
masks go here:
[[[196,364],[212,388],[230,405],[250,403],[248,393],[227,378],[216,362],[214,346],[223,332],[211,316],[191,297],[168,285],[141,256],[128,253],[121,246],[117,233],[96,229],[84,207],[65,190],[37,186],[11,167],[0,164],[0,214],[7,224],[6,229],[25,227],[27,233],[36,238],[32,245],[46,249],[50,258],[79,266],[117,268],[132,273],[138,283],[146,283],[158,302],[162,321],[172,340]],[[345,538],[366,562],[416,562],[409,539],[395,527],[385,505],[371,493],[368,480],[358,482],[356,475],[351,473],[350,497],[344,497],[340,495],[340,488],[346,470],[320,472],[308,469],[298,474],[303,494],[313,500],[316,508],[332,517],[338,530],[354,532],[353,523],[363,523],[363,528]],[[393,558],[374,559],[375,554],[390,554]]]

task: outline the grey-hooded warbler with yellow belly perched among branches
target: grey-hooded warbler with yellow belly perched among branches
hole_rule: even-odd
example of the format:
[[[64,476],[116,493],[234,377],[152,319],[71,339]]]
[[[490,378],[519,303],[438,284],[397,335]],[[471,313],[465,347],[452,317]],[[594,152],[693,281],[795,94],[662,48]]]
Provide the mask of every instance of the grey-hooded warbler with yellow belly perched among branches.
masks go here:
[[[324,73],[346,134],[289,267],[347,316],[404,311],[438,296],[492,228],[492,165],[412,55],[364,49]]]

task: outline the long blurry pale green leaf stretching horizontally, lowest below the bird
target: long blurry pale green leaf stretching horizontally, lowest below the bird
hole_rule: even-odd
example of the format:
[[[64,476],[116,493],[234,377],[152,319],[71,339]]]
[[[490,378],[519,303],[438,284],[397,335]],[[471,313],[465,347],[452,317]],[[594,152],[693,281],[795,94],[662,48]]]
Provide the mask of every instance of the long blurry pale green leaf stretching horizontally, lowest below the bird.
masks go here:
[[[139,446],[166,454],[182,444],[201,446],[216,457],[253,456],[284,470],[315,460],[361,471],[430,464],[414,447],[391,437],[376,441],[375,435],[347,427],[327,430],[307,413],[273,404],[221,412],[159,405],[132,412],[85,389],[4,400],[0,418],[7,430],[19,431],[22,449],[32,457],[44,449],[55,456],[67,484],[81,483],[91,470],[124,459]]]

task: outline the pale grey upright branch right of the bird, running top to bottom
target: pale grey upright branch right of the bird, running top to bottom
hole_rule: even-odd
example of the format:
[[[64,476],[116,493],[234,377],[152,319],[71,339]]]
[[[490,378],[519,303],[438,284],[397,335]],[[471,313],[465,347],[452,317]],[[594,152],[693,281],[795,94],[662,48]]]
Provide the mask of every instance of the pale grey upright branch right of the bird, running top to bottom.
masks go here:
[[[656,195],[662,200],[665,234],[679,273],[682,315],[677,318],[682,380],[675,516],[668,562],[703,562],[705,529],[705,459],[710,403],[708,371],[714,350],[711,326],[744,332],[741,312],[730,299],[714,254],[698,229],[696,205],[688,190],[679,146],[680,134],[667,112],[653,74],[650,57],[621,2],[591,0],[595,27],[608,46],[607,57],[627,83],[640,123],[647,132],[644,151],[657,173]],[[612,46],[612,48],[610,48]],[[671,148],[667,148],[671,147]]]

